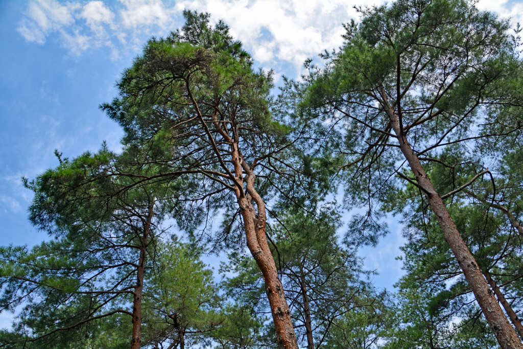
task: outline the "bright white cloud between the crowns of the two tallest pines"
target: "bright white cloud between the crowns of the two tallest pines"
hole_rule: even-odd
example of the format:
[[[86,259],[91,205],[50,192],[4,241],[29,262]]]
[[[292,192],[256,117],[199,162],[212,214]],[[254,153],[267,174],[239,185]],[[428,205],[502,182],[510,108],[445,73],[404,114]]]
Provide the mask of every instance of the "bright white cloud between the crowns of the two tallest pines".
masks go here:
[[[342,24],[356,19],[355,4],[380,3],[381,0],[185,0],[178,6],[209,12],[213,21],[223,19],[232,35],[245,44],[260,64],[290,62],[300,72],[306,58],[342,44]],[[263,31],[270,34],[270,45],[263,41]]]

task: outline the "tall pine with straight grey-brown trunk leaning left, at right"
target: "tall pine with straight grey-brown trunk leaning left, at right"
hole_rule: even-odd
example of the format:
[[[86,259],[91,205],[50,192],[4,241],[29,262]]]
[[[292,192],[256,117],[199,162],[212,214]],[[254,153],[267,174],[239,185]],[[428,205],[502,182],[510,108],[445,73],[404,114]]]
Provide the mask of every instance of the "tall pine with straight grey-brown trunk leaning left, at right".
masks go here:
[[[386,201],[401,185],[395,176],[418,188],[499,344],[519,348],[442,199],[453,193],[438,193],[425,171],[446,145],[473,148],[494,137],[488,125],[505,110],[521,119],[521,64],[508,24],[459,0],[400,0],[360,12],[361,23],[346,26],[342,49],[326,53],[326,69],[313,71],[304,107],[312,106],[327,127],[340,126],[344,140],[333,145],[355,201],[371,208]]]

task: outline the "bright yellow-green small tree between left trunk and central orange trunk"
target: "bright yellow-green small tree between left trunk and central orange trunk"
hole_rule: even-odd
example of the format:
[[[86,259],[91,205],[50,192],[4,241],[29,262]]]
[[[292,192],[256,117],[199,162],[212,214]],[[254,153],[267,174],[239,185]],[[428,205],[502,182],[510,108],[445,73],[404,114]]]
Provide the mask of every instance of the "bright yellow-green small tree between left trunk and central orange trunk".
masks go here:
[[[175,241],[158,244],[156,253],[160,263],[143,295],[142,342],[198,342],[223,321],[212,271],[201,262],[201,251]]]

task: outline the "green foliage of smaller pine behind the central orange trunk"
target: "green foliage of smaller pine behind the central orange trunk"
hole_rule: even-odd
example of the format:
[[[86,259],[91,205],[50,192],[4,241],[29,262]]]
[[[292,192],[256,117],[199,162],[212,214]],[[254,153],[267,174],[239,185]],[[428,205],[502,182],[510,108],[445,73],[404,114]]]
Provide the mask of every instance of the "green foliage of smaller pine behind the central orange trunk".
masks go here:
[[[297,208],[280,212],[278,224],[270,228],[271,249],[294,328],[305,346],[307,322],[317,347],[347,347],[358,340],[374,342],[385,326],[385,296],[376,294],[363,280],[368,273],[363,271],[356,251],[339,245],[339,227],[337,208],[325,205],[316,217]],[[224,280],[228,295],[260,314],[267,313],[265,284],[254,260],[237,253],[229,255],[229,259],[229,264],[221,268],[222,273],[234,273]],[[304,295],[310,318],[305,311]],[[347,336],[353,335],[354,341],[347,342]]]

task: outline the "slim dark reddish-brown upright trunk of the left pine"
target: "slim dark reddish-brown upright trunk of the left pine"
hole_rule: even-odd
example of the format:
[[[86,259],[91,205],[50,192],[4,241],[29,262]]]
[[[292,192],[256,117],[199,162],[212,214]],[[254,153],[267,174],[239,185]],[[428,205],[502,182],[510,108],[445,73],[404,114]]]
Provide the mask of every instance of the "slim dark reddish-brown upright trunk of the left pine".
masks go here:
[[[140,349],[142,342],[142,292],[143,292],[143,276],[145,273],[145,249],[147,246],[147,239],[151,229],[151,221],[153,218],[154,199],[149,206],[149,215],[145,223],[140,246],[140,257],[138,259],[137,268],[137,282],[134,287],[133,307],[132,307],[132,339],[131,349]]]

